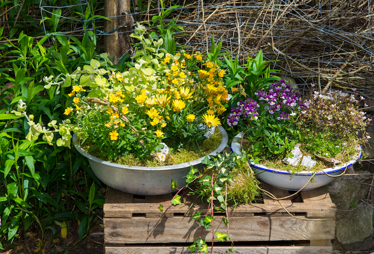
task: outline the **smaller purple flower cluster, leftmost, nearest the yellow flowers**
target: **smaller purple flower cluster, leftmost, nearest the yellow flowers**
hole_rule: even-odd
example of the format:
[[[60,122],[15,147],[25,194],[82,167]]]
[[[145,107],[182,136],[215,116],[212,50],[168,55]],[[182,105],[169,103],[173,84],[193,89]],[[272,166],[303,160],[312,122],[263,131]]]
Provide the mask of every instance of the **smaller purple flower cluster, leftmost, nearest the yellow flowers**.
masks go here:
[[[244,101],[239,101],[237,107],[231,108],[231,113],[227,117],[228,126],[236,125],[241,115],[244,118],[257,119],[259,114],[257,107],[260,107],[260,105],[254,99],[248,98]]]

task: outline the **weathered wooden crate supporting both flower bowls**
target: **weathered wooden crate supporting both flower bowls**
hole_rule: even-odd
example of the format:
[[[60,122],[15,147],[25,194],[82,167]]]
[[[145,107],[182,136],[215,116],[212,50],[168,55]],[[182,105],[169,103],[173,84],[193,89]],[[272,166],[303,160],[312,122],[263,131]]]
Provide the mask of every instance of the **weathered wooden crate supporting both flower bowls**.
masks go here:
[[[277,197],[290,194],[266,184],[263,188]],[[171,198],[171,194],[134,196],[108,187],[104,204],[104,252],[190,253],[187,247],[201,232],[201,227],[191,216],[199,210],[205,214],[207,207],[196,202],[188,210],[193,197],[183,193],[182,205],[171,206],[163,214],[158,206],[166,207]],[[302,191],[296,198],[281,203],[297,218],[267,196],[263,203],[229,209],[229,235],[234,242],[234,253],[332,253],[330,240],[335,236],[336,207],[326,187]],[[215,219],[215,230],[227,231],[220,218]],[[202,238],[212,239],[211,228],[203,230]],[[225,253],[229,247],[229,243],[222,245],[215,241],[213,253]]]

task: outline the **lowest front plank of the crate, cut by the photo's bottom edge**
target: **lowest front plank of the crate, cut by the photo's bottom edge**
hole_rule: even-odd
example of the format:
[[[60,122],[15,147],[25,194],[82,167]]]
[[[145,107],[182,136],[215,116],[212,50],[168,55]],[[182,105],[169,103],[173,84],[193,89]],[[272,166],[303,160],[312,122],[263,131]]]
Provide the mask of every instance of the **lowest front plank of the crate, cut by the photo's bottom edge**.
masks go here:
[[[229,246],[213,247],[214,254],[223,254]],[[331,254],[331,246],[233,246],[233,254]],[[191,254],[187,246],[107,246],[106,254]],[[209,248],[210,253],[210,248]],[[231,252],[230,252],[231,253]]]

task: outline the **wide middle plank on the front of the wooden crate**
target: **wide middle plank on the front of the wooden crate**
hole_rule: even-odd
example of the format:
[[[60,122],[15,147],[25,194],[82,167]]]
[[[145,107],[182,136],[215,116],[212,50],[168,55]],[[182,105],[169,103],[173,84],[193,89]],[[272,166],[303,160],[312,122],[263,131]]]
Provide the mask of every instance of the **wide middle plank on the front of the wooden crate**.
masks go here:
[[[221,218],[215,218],[214,230],[226,231]],[[233,241],[320,240],[335,237],[334,218],[230,217],[229,226]],[[193,242],[200,232],[200,225],[190,217],[104,218],[105,242],[111,244]],[[204,229],[201,237],[212,239],[211,228]]]

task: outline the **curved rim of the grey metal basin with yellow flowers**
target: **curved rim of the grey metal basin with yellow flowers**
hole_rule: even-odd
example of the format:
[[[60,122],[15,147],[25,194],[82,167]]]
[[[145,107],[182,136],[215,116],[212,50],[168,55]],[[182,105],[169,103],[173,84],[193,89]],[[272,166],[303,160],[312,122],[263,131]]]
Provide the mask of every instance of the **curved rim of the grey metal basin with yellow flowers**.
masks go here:
[[[213,152],[211,152],[210,154],[208,154],[206,156],[216,155],[217,153],[220,153],[221,151],[223,151],[223,149],[226,147],[226,145],[228,143],[227,132],[224,130],[224,128],[221,125],[218,125],[218,128],[219,128],[220,132],[222,133],[222,141],[221,141],[221,143],[219,144],[219,146],[217,147],[216,150],[214,150]],[[194,161],[184,162],[184,163],[170,165],[170,166],[158,166],[158,167],[128,166],[128,165],[122,165],[122,164],[116,164],[116,163],[104,161],[104,160],[101,160],[101,159],[99,159],[99,158],[97,158],[93,155],[90,155],[80,146],[80,144],[78,142],[78,136],[76,134],[73,134],[73,145],[74,145],[75,149],[81,155],[83,155],[84,157],[86,157],[87,159],[89,159],[91,161],[94,161],[94,162],[99,163],[99,164],[107,165],[107,166],[110,166],[110,167],[123,168],[123,169],[134,169],[134,170],[159,171],[159,170],[182,169],[182,168],[186,168],[186,167],[190,167],[190,166],[195,166],[195,165],[201,163],[201,161],[204,160],[204,158],[206,157],[206,156],[204,156],[204,157],[201,157],[201,158],[199,158],[197,160],[194,160]]]

